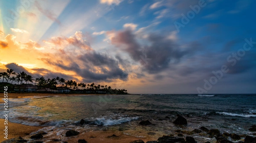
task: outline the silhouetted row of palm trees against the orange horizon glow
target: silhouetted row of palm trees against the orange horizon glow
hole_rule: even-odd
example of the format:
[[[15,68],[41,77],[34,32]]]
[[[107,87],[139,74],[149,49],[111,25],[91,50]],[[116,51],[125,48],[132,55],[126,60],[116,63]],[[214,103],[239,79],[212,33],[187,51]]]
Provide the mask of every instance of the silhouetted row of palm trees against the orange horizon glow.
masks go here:
[[[13,76],[12,76],[13,75]],[[74,80],[65,80],[60,77],[56,77],[53,79],[45,79],[43,76],[38,78],[33,78],[31,75],[26,74],[24,71],[20,73],[15,73],[13,69],[7,69],[6,72],[0,73],[0,79],[2,78],[2,83],[4,79],[6,83],[12,84],[16,82],[16,85],[19,85],[21,88],[22,85],[25,87],[28,84],[36,85],[36,87],[40,89],[50,89],[50,90],[57,90],[57,87],[66,87],[67,89],[74,91],[74,92],[90,92],[90,93],[111,93],[111,94],[127,94],[127,90],[125,89],[112,89],[111,86],[107,85],[96,85],[92,84],[85,84],[85,83],[77,83]]]

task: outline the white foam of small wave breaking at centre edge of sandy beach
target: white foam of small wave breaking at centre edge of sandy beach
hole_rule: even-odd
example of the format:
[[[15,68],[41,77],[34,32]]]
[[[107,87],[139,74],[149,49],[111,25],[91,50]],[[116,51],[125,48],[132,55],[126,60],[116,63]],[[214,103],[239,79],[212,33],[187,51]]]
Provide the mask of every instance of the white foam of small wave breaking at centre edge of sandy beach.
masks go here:
[[[101,126],[111,126],[111,125],[118,125],[121,123],[126,123],[132,120],[137,120],[139,117],[131,117],[131,118],[119,118],[116,120],[113,120],[112,118],[96,118],[96,121],[94,122],[96,125],[101,125]]]

